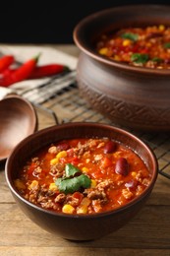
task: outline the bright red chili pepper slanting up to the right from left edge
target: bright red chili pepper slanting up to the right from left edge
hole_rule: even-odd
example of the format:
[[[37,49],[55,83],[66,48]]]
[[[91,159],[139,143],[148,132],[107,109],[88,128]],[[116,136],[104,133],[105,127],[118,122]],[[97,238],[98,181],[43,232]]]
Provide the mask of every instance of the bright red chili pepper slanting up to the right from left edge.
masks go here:
[[[6,75],[4,75],[0,79],[0,86],[9,87],[14,83],[21,82],[23,80],[28,79],[28,77],[30,76],[30,74],[32,73],[33,69],[36,66],[38,58],[39,58],[39,55],[29,59],[27,62],[25,62],[16,70],[13,70],[12,72],[7,72]]]

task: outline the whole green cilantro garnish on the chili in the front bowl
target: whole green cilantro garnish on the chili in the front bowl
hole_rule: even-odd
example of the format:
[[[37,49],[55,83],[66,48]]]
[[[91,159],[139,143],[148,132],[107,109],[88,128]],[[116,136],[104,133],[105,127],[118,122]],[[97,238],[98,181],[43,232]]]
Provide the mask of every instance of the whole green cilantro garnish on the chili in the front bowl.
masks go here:
[[[66,164],[65,172],[65,177],[57,178],[55,181],[60,192],[69,194],[90,186],[91,180],[71,163]]]

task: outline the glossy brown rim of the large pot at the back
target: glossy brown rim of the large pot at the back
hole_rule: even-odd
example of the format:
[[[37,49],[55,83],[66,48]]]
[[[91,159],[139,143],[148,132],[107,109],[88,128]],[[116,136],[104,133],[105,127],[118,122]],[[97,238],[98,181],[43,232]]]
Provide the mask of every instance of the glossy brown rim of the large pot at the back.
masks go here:
[[[104,17],[104,16],[107,17],[107,15],[109,13],[113,13],[113,15],[114,15],[117,13],[121,13],[122,11],[129,12],[129,11],[132,11],[132,9],[135,9],[136,12],[137,11],[142,12],[142,9],[145,9],[145,8],[147,8],[147,10],[153,10],[153,11],[159,9],[160,13],[161,13],[161,10],[170,12],[170,6],[165,5],[165,4],[148,4],[148,5],[133,4],[133,5],[123,5],[123,6],[106,8],[106,9],[94,12],[92,14],[89,14],[88,16],[83,18],[74,28],[73,39],[74,39],[76,45],[78,46],[78,48],[80,48],[80,50],[82,52],[84,52],[87,56],[91,57],[92,59],[94,59],[95,61],[98,61],[100,63],[109,65],[109,66],[117,68],[117,69],[122,69],[124,71],[138,72],[138,73],[147,74],[147,75],[152,75],[154,73],[154,75],[169,77],[170,70],[168,70],[168,69],[151,69],[151,68],[145,68],[145,67],[140,67],[140,66],[130,66],[129,64],[110,60],[107,57],[99,55],[97,52],[92,50],[90,47],[86,46],[84,40],[79,36],[79,33],[82,30],[84,30],[84,27],[87,28],[87,26],[90,26],[91,22],[96,23],[97,19],[100,19],[100,17]],[[149,12],[149,14],[150,14],[150,12]],[[126,21],[126,19],[125,19],[125,21]]]

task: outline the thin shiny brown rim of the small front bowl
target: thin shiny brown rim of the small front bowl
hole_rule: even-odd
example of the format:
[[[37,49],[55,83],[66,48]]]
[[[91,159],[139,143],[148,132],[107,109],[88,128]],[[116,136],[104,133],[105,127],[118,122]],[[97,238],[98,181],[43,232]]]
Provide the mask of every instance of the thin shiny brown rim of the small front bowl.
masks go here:
[[[122,206],[118,209],[115,209],[115,210],[111,210],[111,211],[106,211],[106,212],[103,212],[103,213],[96,213],[96,214],[90,214],[90,215],[73,215],[73,214],[64,214],[64,213],[56,213],[56,212],[53,212],[51,210],[46,210],[46,209],[43,209],[31,202],[29,202],[27,199],[25,199],[24,197],[22,197],[20,195],[20,193],[18,192],[18,190],[15,188],[14,184],[13,184],[13,180],[11,179],[10,180],[10,170],[9,170],[9,167],[10,165],[12,166],[12,161],[13,159],[15,158],[15,155],[17,154],[17,152],[24,147],[25,144],[27,144],[29,141],[31,141],[31,139],[33,139],[34,137],[43,137],[44,134],[46,133],[49,133],[51,131],[57,131],[58,129],[67,129],[67,127],[71,127],[71,126],[95,126],[95,127],[98,127],[98,125],[104,129],[113,129],[113,131],[117,131],[117,132],[120,132],[120,133],[123,133],[124,135],[130,137],[131,139],[133,140],[136,140],[138,143],[140,143],[143,147],[144,150],[147,151],[147,153],[149,154],[149,158],[150,160],[152,161],[153,163],[153,173],[152,173],[152,176],[151,176],[151,180],[150,180],[150,183],[148,185],[148,187],[145,188],[145,190],[142,192],[141,195],[139,195],[137,198],[133,199],[131,202],[127,203],[125,206]],[[75,138],[75,137],[74,137]],[[89,138],[89,136],[88,136]],[[60,139],[59,139],[60,140]],[[48,145],[48,143],[46,144]],[[50,126],[50,127],[47,127],[47,128],[44,128],[44,129],[41,129],[31,135],[29,135],[27,138],[25,138],[23,141],[21,141],[16,147],[15,149],[13,150],[13,152],[11,153],[10,157],[7,159],[6,163],[5,163],[5,178],[6,178],[6,182],[8,184],[8,187],[10,188],[12,194],[17,197],[19,200],[21,200],[23,203],[25,203],[26,205],[28,205],[29,207],[33,208],[34,210],[37,210],[37,211],[40,211],[42,213],[46,213],[50,216],[56,216],[56,217],[61,217],[61,218],[66,218],[66,219],[70,219],[70,218],[73,218],[73,219],[96,219],[96,218],[103,218],[103,217],[106,217],[106,216],[112,216],[112,215],[117,215],[121,212],[123,212],[124,210],[126,209],[130,209],[131,206],[133,205],[136,205],[138,203],[140,203],[142,201],[142,199],[144,199],[144,197],[146,195],[148,195],[151,190],[153,189],[153,186],[156,182],[156,179],[157,179],[157,175],[158,175],[158,162],[157,162],[157,159],[155,157],[155,154],[154,152],[152,151],[152,149],[145,143],[142,141],[142,139],[140,139],[139,137],[137,137],[136,135],[134,135],[133,133],[131,132],[128,132],[126,131],[125,129],[122,129],[122,128],[119,128],[119,127],[116,127],[116,126],[113,126],[113,125],[109,125],[109,124],[104,124],[104,123],[96,123],[96,122],[68,122],[68,123],[64,123],[64,124],[58,124],[58,125],[53,125],[53,126]]]

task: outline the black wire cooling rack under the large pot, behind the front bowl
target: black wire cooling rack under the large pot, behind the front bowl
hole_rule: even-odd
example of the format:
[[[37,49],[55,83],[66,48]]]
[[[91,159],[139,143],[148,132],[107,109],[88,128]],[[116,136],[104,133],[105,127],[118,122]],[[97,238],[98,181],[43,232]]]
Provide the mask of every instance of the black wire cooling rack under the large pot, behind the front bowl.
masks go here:
[[[52,79],[23,96],[34,104],[37,115],[41,112],[43,118],[49,118],[49,125],[51,121],[55,124],[86,121],[118,126],[88,105],[79,93],[75,74],[76,72],[72,71],[71,74],[64,75],[63,80]],[[141,138],[153,150],[158,160],[159,173],[170,179],[170,133],[148,133],[122,126],[121,128]]]

